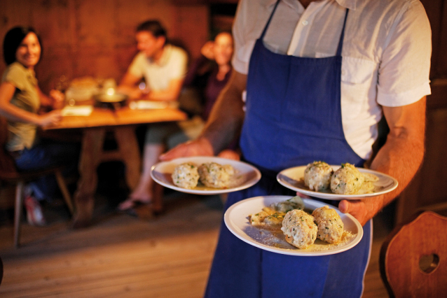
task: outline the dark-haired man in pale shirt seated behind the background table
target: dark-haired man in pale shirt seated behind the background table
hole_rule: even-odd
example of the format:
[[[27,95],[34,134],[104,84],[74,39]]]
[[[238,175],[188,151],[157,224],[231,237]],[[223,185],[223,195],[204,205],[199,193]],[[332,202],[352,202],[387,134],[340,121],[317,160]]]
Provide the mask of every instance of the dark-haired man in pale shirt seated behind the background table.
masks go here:
[[[118,91],[128,94],[130,99],[146,99],[154,101],[177,101],[186,74],[188,57],[181,48],[167,43],[166,30],[157,20],[149,20],[137,27],[137,48],[140,51],[130,64],[123,80],[118,85]],[[139,83],[144,79],[145,88]],[[147,191],[151,183],[151,166],[158,161],[163,153],[163,142],[148,142],[147,139],[165,134],[173,124],[150,125],[146,134],[143,152],[143,173],[137,189],[118,209],[121,211],[132,208],[136,202],[149,204],[151,195]]]

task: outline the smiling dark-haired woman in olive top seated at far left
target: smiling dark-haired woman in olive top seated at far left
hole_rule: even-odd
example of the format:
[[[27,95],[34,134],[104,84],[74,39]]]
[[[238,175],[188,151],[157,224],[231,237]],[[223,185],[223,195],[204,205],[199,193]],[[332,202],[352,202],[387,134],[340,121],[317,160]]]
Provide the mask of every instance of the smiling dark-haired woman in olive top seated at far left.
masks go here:
[[[43,108],[62,108],[64,95],[56,90],[44,95],[34,73],[41,57],[41,42],[30,27],[15,27],[6,33],[3,44],[6,70],[0,85],[0,115],[8,121],[6,150],[14,157],[18,171],[39,170],[71,164],[76,171],[78,146],[41,139],[37,127],[55,125],[61,112],[41,113]],[[46,223],[38,200],[52,199],[57,190],[53,177],[42,177],[27,185],[25,208],[32,225]]]

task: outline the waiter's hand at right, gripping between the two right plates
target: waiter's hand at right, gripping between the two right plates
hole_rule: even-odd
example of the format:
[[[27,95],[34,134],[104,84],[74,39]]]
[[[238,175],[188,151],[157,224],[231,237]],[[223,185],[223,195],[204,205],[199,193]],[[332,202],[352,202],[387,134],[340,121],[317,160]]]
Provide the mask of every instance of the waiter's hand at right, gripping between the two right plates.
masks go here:
[[[342,200],[338,204],[338,209],[343,213],[350,213],[364,226],[366,222],[380,211],[383,206],[382,197],[371,197],[361,200]]]

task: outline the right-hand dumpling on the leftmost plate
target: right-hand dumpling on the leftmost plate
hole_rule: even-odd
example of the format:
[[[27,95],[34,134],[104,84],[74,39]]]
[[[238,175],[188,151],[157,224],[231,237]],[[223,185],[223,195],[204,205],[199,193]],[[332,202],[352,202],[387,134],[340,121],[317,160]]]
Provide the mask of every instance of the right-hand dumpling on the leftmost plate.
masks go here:
[[[231,177],[234,175],[233,166],[221,165],[216,162],[207,162],[201,164],[198,168],[200,182],[207,187],[227,188],[231,183]]]

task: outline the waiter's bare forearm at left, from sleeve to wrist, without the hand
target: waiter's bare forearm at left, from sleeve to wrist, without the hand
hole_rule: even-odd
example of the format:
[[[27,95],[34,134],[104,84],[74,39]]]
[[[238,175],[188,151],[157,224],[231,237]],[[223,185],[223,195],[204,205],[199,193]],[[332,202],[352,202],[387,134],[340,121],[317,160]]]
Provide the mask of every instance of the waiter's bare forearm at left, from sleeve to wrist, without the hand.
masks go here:
[[[228,84],[212,108],[202,137],[211,143],[214,153],[224,150],[240,134],[245,113],[242,92],[247,76],[233,70]]]

